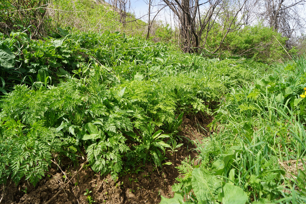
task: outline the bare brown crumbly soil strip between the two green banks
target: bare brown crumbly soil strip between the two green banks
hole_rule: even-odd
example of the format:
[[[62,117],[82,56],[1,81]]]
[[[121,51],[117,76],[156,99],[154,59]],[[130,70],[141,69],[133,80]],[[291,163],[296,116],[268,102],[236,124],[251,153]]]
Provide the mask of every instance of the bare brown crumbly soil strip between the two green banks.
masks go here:
[[[110,175],[100,176],[87,165],[78,175],[70,180],[76,174],[80,166],[72,166],[71,163],[62,164],[61,169],[53,164],[47,174],[36,187],[28,182],[20,182],[17,186],[9,183],[0,187],[1,203],[6,204],[40,204],[47,202],[53,197],[67,182],[69,184],[56,196],[50,203],[57,204],[87,204],[88,195],[84,195],[86,189],[91,191],[89,194],[95,203],[159,203],[160,196],[166,198],[173,197],[174,192],[171,186],[176,182],[175,178],[179,172],[175,167],[181,164],[186,157],[195,158],[196,151],[190,151],[196,148],[196,145],[189,140],[201,141],[204,137],[210,135],[206,127],[212,121],[211,117],[203,115],[187,115],[183,118],[181,131],[179,135],[183,136],[181,143],[184,145],[178,148],[173,154],[166,154],[165,162],[172,162],[171,165],[163,165],[162,170],[157,170],[151,164],[145,164],[138,173],[131,173],[121,176],[117,181],[112,180]],[[201,127],[203,128],[201,128]],[[84,162],[80,161],[81,163]]]

